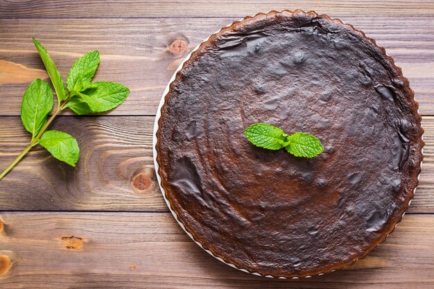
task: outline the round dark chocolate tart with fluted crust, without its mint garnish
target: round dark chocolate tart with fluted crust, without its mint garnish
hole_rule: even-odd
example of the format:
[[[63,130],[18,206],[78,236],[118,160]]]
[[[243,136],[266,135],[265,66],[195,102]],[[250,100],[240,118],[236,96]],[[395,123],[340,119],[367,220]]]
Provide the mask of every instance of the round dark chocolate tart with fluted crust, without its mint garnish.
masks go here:
[[[401,69],[360,30],[272,11],[211,35],[166,89],[157,177],[187,233],[238,269],[296,278],[363,258],[418,184],[422,127]],[[265,122],[318,137],[318,157],[253,146]]]

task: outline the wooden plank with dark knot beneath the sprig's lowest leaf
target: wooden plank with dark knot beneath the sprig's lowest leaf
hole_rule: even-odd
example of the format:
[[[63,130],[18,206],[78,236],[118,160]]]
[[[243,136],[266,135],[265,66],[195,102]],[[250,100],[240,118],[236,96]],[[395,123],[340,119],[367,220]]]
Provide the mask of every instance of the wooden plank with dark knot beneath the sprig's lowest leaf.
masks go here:
[[[76,168],[35,147],[0,182],[0,210],[167,211],[155,179],[154,118],[62,116],[53,124],[78,139]],[[409,213],[434,213],[434,118],[426,117],[424,164]],[[0,118],[0,170],[26,146],[18,117]]]

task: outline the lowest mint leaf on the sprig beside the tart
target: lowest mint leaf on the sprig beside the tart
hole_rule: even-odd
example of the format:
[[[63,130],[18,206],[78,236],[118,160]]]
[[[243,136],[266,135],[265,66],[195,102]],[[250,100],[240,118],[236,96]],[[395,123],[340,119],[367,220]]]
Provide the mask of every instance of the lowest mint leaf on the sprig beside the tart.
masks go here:
[[[76,139],[69,134],[57,130],[47,130],[42,134],[39,143],[56,159],[64,161],[70,166],[76,166],[80,157],[80,148],[78,148]]]

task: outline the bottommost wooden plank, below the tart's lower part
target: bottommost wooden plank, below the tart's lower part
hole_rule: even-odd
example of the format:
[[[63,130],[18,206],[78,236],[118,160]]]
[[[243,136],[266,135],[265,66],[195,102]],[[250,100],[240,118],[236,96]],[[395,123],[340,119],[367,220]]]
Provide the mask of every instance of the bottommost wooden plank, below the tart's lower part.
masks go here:
[[[170,213],[1,213],[1,288],[433,288],[434,216],[405,216],[345,270],[279,280],[214,259]],[[35,229],[37,228],[37,229]],[[5,257],[8,256],[8,257]],[[6,262],[3,266],[8,265]]]

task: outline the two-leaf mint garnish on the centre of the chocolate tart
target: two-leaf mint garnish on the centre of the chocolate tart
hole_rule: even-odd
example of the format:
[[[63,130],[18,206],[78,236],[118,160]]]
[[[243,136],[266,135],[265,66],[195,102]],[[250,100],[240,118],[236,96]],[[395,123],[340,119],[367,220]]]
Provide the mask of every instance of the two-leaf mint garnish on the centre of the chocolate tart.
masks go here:
[[[288,135],[268,123],[254,123],[244,130],[244,134],[255,146],[268,150],[285,148],[295,157],[315,157],[324,151],[321,141],[312,134],[295,132]]]

